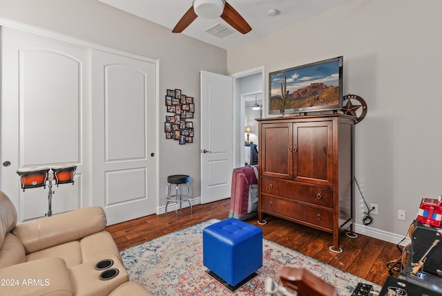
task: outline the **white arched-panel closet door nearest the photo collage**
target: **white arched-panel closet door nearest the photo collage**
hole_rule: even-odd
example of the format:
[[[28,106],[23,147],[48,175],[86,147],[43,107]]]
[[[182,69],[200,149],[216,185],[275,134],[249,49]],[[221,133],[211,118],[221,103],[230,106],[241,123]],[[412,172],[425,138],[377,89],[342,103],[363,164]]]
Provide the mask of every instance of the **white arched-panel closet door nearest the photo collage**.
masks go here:
[[[92,52],[93,203],[108,225],[156,212],[155,67]]]

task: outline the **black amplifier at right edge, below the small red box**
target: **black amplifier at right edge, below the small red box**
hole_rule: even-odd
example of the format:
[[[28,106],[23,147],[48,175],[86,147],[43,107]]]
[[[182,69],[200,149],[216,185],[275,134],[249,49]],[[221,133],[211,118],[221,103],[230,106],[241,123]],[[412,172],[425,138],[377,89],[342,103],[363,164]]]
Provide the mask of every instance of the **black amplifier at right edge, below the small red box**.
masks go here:
[[[430,250],[435,241],[439,242]],[[421,270],[442,277],[442,230],[441,228],[414,221],[414,230],[412,230],[412,262],[419,263],[428,250],[430,252],[426,255],[427,259],[425,259]]]

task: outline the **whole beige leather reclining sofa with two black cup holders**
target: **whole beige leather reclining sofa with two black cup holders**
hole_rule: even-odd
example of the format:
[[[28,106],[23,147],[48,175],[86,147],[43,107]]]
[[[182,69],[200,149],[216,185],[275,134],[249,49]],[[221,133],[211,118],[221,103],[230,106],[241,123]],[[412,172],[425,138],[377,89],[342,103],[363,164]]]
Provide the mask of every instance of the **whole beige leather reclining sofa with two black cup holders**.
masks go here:
[[[151,295],[128,281],[105,227],[106,214],[98,206],[17,225],[15,206],[0,191],[0,296]],[[97,270],[103,259],[112,266]],[[117,275],[106,279],[112,268]]]

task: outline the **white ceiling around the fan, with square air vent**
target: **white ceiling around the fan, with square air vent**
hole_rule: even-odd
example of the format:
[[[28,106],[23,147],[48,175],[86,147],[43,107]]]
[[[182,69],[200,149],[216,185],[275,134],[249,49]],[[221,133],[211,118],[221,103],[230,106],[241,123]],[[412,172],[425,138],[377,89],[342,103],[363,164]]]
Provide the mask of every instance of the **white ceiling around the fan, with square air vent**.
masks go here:
[[[153,21],[172,30],[192,6],[193,0],[98,0],[110,6],[119,8],[138,17]],[[198,17],[183,33],[195,39],[200,39],[220,48],[233,48],[294,25],[298,21],[318,15],[325,10],[335,8],[354,0],[228,0],[242,17],[249,23],[251,32],[242,35],[227,25],[220,17],[203,19]],[[279,10],[280,13],[269,17],[269,10]],[[226,24],[235,33],[218,38],[204,32],[217,24]],[[172,34],[172,33],[171,33]],[[173,33],[175,34],[175,33]]]

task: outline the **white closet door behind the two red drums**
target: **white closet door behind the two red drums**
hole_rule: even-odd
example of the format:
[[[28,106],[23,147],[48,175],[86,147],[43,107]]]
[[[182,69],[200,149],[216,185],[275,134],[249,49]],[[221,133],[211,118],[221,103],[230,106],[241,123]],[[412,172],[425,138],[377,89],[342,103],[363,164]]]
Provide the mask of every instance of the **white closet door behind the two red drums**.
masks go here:
[[[10,28],[2,28],[1,39],[1,189],[17,207],[19,222],[44,216],[48,187],[23,192],[17,169],[77,165],[74,185],[54,187],[52,212],[77,209],[90,196],[84,178],[90,170],[84,149],[90,147],[84,122],[90,50]]]

